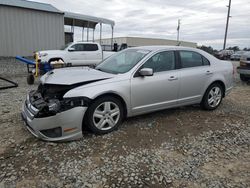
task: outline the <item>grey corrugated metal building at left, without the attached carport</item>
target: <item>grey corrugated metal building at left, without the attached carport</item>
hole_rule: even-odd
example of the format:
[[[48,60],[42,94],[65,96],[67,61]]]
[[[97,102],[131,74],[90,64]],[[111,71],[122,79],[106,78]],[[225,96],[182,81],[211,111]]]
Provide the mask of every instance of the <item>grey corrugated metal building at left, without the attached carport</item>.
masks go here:
[[[63,44],[63,12],[44,3],[0,0],[0,56],[31,56]]]

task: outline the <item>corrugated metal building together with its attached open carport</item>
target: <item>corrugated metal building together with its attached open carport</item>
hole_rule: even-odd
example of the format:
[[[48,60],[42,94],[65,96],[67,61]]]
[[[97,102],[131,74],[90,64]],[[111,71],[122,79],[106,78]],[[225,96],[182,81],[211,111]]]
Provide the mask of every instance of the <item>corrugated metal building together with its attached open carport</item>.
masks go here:
[[[89,32],[92,29],[94,33],[97,24],[100,24],[100,38],[103,24],[111,26],[113,38],[112,20],[64,13],[45,3],[0,0],[0,57],[32,56],[34,51],[59,49],[65,42],[73,41],[74,27],[81,27],[83,34],[87,33],[82,40],[94,40],[89,38]],[[71,26],[70,32],[64,31],[65,25]]]

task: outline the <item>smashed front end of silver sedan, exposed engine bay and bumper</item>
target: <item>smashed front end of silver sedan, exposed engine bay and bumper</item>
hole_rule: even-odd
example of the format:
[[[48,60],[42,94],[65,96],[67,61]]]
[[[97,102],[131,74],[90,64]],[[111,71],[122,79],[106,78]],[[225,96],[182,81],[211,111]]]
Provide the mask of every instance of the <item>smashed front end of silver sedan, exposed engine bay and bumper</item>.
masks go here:
[[[47,141],[67,141],[82,137],[82,120],[90,99],[63,98],[79,85],[40,84],[23,105],[22,118],[27,129]]]

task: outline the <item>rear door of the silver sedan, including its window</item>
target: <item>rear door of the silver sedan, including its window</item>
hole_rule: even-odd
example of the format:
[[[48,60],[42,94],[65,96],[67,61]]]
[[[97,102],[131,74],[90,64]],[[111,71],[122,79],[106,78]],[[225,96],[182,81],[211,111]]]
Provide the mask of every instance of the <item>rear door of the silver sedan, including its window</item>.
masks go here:
[[[199,103],[206,83],[213,74],[210,62],[194,51],[178,51],[178,53],[181,63],[178,103],[182,105]]]

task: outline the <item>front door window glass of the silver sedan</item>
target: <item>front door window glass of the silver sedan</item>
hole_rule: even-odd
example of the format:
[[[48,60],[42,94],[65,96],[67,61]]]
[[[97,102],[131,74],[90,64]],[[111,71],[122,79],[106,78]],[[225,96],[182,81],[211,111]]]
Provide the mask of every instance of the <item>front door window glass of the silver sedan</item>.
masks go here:
[[[143,65],[143,68],[151,68],[154,72],[162,72],[175,69],[175,55],[173,51],[160,52],[152,56]]]

